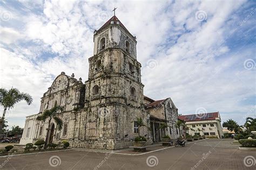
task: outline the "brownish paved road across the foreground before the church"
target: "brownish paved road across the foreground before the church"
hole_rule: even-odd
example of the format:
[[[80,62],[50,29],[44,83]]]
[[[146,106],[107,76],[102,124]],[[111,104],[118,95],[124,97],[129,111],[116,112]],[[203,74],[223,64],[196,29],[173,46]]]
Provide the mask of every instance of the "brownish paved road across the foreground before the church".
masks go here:
[[[2,162],[3,169],[256,169],[256,152],[240,151],[238,146],[230,144],[231,141],[207,139],[185,147],[173,147],[144,155],[70,150],[22,155],[7,162],[7,158],[0,158],[0,164]],[[227,147],[227,144],[232,147]],[[244,164],[245,157],[249,159],[247,166],[251,165],[250,158],[255,165],[247,167]],[[52,160],[52,166],[49,160]]]

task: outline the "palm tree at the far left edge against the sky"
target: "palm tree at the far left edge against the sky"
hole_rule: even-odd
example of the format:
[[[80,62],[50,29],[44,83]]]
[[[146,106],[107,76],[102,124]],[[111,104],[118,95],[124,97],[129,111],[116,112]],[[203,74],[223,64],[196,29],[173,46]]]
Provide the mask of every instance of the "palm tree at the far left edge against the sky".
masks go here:
[[[10,90],[0,88],[0,105],[4,107],[2,120],[4,120],[7,109],[14,108],[15,104],[23,100],[26,103],[28,103],[28,105],[30,105],[33,101],[32,97],[29,94],[21,93],[16,88],[11,88]],[[2,124],[0,125],[0,130],[1,129],[2,129]]]

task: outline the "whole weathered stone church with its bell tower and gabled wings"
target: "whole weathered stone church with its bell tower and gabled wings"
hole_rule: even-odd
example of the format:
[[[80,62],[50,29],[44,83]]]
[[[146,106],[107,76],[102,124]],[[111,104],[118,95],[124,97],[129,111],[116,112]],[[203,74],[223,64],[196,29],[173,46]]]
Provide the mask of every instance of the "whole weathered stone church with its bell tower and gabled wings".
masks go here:
[[[117,150],[132,146],[133,139],[144,136],[147,144],[183,135],[175,127],[178,109],[171,98],[155,101],[144,96],[137,61],[136,37],[114,15],[94,31],[93,56],[89,58],[88,80],[62,72],[41,98],[38,114],[26,117],[21,145],[46,139],[48,143],[68,140],[71,147]],[[55,105],[64,108],[58,130],[54,120],[37,121],[38,115]],[[144,125],[137,125],[142,118]],[[166,123],[167,128],[161,128]]]

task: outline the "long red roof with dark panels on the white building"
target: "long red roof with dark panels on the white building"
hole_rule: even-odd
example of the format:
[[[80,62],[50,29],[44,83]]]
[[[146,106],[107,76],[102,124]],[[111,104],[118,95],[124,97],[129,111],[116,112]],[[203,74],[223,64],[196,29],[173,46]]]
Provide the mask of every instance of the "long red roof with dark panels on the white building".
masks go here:
[[[194,122],[194,121],[210,121],[215,120],[219,117],[219,112],[211,112],[205,114],[194,114],[194,115],[182,115],[179,116],[180,120],[185,122]]]

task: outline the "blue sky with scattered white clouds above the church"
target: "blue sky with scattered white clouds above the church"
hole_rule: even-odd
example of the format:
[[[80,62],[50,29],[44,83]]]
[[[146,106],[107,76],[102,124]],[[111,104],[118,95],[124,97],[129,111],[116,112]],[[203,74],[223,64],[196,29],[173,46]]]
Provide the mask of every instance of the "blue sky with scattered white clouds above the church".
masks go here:
[[[39,111],[61,72],[87,80],[93,31],[114,7],[137,37],[144,95],[171,97],[183,115],[219,111],[239,124],[255,117],[255,1],[2,0],[0,86],[33,97],[7,112],[9,126]]]

